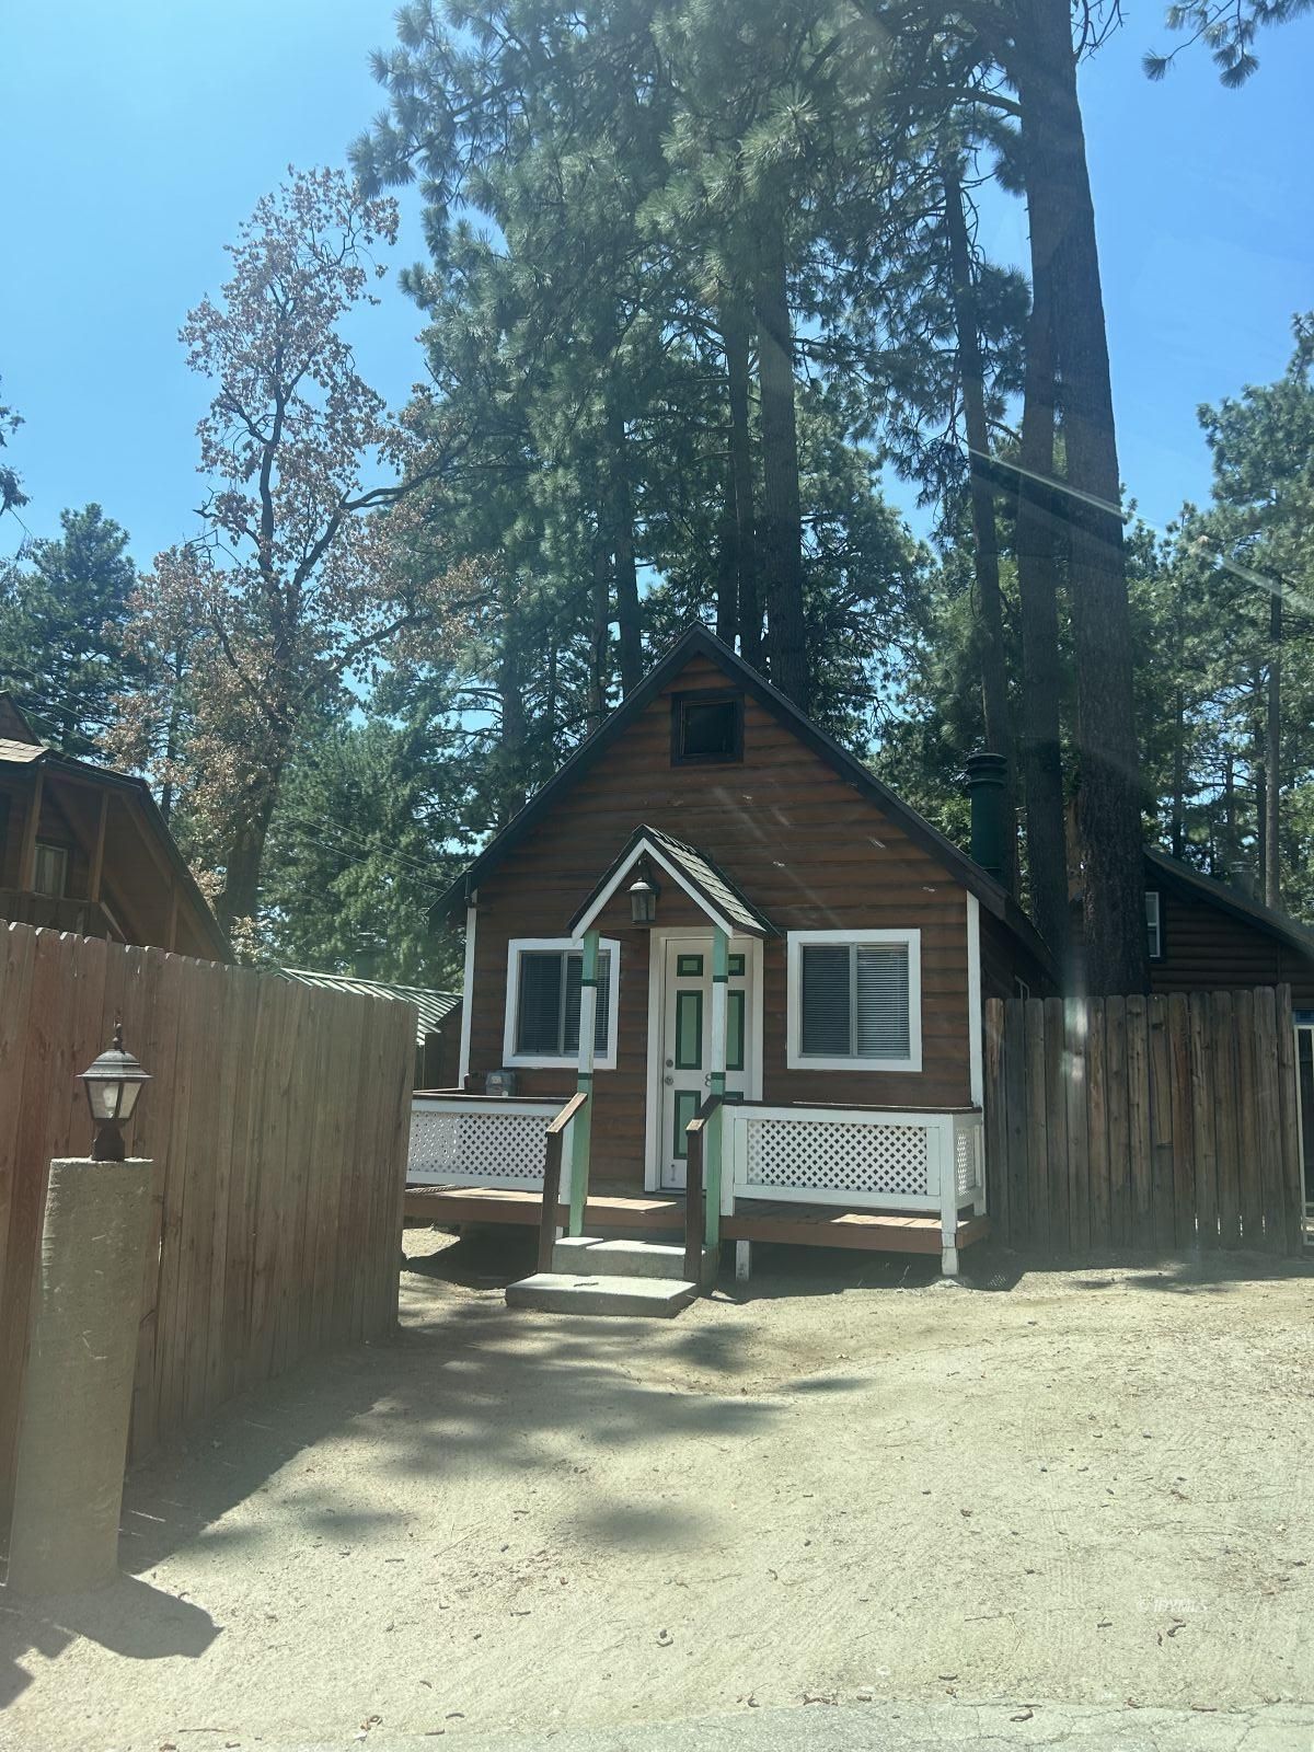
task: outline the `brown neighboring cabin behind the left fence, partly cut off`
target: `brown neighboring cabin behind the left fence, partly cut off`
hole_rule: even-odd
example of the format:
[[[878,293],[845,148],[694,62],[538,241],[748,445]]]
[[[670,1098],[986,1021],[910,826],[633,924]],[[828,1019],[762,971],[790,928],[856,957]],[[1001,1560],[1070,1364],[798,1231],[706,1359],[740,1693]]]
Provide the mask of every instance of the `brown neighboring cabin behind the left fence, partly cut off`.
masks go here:
[[[0,696],[0,918],[231,958],[151,788],[60,755]]]

